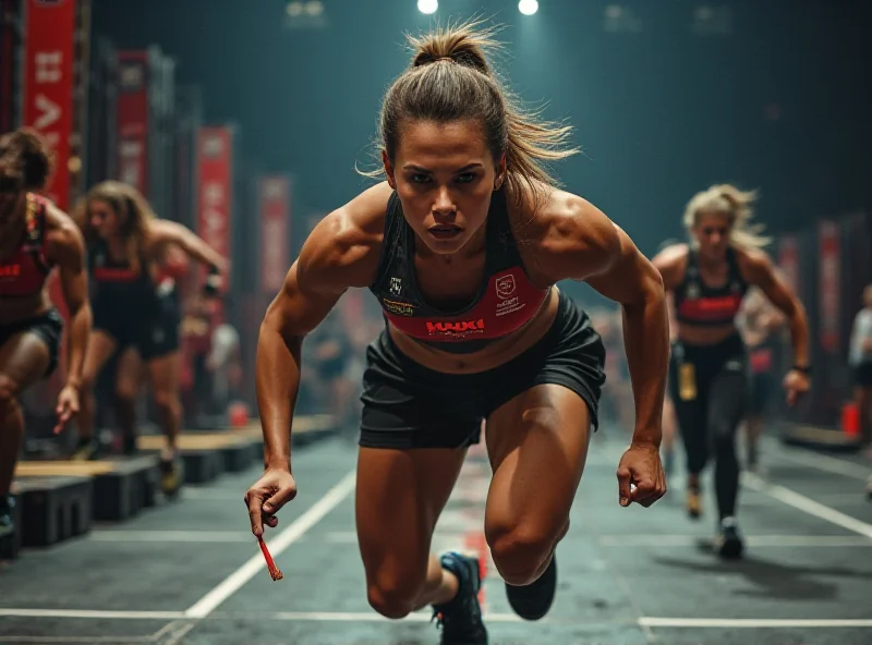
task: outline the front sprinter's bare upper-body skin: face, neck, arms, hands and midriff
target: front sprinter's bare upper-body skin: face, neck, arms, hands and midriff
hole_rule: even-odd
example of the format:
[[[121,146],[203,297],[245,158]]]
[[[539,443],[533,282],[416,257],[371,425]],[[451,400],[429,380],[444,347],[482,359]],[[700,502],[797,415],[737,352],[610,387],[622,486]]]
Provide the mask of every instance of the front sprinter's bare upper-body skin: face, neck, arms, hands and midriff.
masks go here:
[[[396,159],[385,153],[383,162],[386,182],[328,215],[312,232],[261,326],[256,389],[267,471],[246,494],[255,535],[264,523],[276,526],[274,513],[296,495],[290,427],[303,338],[347,289],[375,280],[392,191],[415,235],[415,279],[428,304],[462,306],[485,279],[487,214],[507,173],[505,158],[493,158],[480,125],[407,123]],[[666,490],[658,448],[669,339],[659,273],[623,231],[581,197],[524,181],[510,183],[508,197],[512,234],[535,287],[584,280],[622,305],[637,418],[632,445],[618,467],[619,499],[621,506],[650,506]],[[456,234],[434,235],[434,228],[452,228]],[[557,304],[554,289],[520,329],[462,356],[425,346],[392,326],[388,331],[404,354],[425,367],[482,372],[540,340],[554,322]]]

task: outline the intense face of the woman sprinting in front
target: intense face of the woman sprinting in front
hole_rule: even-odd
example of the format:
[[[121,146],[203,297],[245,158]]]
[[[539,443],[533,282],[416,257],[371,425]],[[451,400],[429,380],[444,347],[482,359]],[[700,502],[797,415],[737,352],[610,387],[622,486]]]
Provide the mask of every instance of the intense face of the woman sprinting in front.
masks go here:
[[[482,228],[502,169],[475,121],[405,123],[388,182],[417,236],[436,254],[459,252]]]

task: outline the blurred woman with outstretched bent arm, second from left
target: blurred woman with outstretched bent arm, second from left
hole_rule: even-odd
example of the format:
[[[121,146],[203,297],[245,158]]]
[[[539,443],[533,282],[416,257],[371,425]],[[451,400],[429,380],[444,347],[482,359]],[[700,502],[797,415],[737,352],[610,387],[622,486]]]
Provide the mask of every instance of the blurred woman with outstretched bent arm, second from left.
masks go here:
[[[119,355],[117,421],[130,443],[135,426],[137,361],[145,363],[158,423],[167,439],[160,453],[161,488],[172,495],[181,485],[177,437],[179,325],[175,297],[159,282],[159,265],[173,246],[221,272],[225,259],[182,224],[158,219],[134,187],[116,181],[94,186],[76,214],[88,244],[93,283],[94,333],[85,357],[76,459],[98,454],[94,440],[94,384],[106,362]],[[138,353],[138,356],[133,352]]]

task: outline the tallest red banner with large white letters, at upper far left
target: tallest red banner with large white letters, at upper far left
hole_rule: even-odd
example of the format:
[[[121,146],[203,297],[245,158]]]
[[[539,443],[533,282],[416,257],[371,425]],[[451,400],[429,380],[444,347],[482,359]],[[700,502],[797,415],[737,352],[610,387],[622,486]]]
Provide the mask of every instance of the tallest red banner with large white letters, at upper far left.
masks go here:
[[[70,200],[70,136],[73,130],[75,1],[29,0],[25,17],[24,125],[36,129],[55,151],[46,196],[61,208]]]

